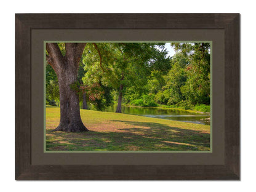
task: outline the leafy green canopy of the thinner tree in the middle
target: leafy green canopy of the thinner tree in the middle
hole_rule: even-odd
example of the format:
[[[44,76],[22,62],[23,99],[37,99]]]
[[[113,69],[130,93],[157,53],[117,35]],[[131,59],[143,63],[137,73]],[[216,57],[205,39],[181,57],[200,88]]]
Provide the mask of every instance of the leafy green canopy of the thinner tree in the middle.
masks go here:
[[[92,49],[94,44],[87,47],[82,60],[87,71],[84,84],[101,82],[122,92],[126,103],[146,92],[151,71],[168,70],[170,66],[162,43],[98,43],[98,49]]]

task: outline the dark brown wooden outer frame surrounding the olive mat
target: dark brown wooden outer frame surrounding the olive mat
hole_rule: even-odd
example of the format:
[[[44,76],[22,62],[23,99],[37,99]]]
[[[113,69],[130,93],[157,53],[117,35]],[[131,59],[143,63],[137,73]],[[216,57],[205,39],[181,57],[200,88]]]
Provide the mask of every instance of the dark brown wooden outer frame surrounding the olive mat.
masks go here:
[[[239,180],[239,14],[16,14],[16,180]],[[225,30],[225,164],[42,165],[31,164],[32,29]]]

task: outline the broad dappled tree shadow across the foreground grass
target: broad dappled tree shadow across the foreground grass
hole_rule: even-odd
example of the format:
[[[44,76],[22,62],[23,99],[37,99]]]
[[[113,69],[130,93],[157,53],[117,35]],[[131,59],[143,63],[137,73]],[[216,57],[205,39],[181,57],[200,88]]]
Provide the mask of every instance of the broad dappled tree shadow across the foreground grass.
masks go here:
[[[131,128],[116,132],[54,132],[47,150],[70,151],[209,151],[210,134],[156,122],[119,121]]]

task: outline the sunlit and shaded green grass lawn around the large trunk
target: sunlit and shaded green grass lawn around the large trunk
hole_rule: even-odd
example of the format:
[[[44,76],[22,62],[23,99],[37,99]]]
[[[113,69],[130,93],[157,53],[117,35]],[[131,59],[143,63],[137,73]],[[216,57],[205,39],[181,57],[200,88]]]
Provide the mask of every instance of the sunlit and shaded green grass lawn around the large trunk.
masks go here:
[[[89,132],[52,132],[60,108],[46,108],[46,151],[209,151],[210,126],[81,110]]]

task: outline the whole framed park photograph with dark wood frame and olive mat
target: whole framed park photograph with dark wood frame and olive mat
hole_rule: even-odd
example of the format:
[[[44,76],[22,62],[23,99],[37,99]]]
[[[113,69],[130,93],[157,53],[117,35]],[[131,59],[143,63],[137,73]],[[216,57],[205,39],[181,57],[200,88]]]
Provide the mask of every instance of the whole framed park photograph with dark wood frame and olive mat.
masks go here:
[[[16,180],[239,180],[239,14],[16,14]]]

